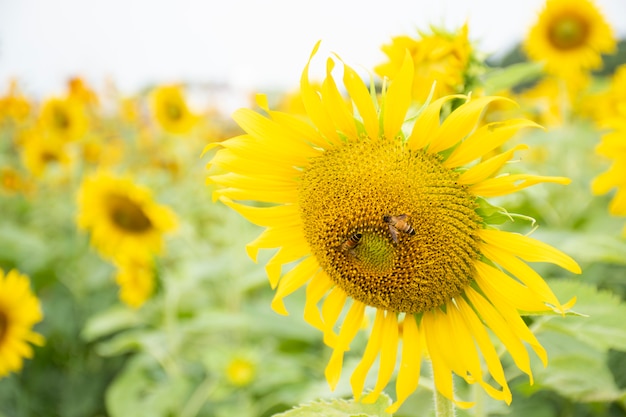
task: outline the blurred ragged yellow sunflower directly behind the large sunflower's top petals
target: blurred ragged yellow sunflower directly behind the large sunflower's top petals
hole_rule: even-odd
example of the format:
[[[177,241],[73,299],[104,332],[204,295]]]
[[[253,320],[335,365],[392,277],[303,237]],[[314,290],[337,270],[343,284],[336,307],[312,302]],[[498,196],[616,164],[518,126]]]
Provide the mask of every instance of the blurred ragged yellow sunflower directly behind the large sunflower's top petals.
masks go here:
[[[426,101],[435,81],[433,99],[462,92],[465,88],[473,52],[467,24],[456,33],[433,29],[432,34],[422,33],[419,39],[397,36],[381,49],[388,62],[378,65],[374,71],[392,80],[402,67],[405,52],[410,52],[415,65],[413,98],[420,103]]]

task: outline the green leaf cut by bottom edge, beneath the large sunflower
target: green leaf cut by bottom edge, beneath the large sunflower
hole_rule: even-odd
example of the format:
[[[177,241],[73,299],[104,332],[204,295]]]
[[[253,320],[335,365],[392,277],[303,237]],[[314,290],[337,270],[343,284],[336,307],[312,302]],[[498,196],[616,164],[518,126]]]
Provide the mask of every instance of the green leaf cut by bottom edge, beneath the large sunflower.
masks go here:
[[[300,405],[293,410],[275,414],[274,417],[386,417],[391,416],[385,412],[389,405],[391,405],[391,399],[383,393],[374,404],[362,404],[343,399],[322,400]]]

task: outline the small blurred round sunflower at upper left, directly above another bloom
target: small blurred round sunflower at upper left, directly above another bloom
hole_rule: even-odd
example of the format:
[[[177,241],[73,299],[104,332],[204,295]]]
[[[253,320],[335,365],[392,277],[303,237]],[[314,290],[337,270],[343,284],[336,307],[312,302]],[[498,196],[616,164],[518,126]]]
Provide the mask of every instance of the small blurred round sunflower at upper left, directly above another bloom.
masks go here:
[[[89,119],[82,103],[71,98],[51,98],[43,104],[39,127],[54,140],[71,142],[87,132]]]

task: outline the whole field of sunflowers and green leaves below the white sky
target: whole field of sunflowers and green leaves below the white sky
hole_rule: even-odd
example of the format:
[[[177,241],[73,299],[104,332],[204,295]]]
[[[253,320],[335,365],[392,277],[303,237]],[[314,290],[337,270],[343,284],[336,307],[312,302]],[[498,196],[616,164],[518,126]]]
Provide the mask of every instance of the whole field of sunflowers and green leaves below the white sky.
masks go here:
[[[232,114],[5,80],[0,417],[626,416],[626,40],[471,30]]]

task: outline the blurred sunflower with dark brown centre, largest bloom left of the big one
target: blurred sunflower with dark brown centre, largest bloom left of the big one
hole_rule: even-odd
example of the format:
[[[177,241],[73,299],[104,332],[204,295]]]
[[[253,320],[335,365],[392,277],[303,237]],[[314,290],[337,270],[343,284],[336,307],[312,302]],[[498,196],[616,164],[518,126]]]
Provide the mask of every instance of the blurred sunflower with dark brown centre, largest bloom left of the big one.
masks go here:
[[[176,215],[154,202],[146,187],[130,178],[100,172],[86,177],[78,192],[79,228],[109,259],[144,259],[160,254],[163,235],[176,228]]]

